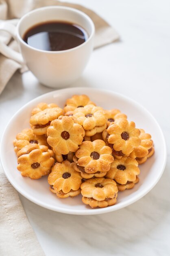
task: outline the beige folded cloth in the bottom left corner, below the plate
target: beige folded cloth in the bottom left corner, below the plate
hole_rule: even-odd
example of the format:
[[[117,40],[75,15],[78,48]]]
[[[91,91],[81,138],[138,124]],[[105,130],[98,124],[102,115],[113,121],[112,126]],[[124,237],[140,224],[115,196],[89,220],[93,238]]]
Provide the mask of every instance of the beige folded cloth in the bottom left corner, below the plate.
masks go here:
[[[45,256],[17,191],[0,165],[0,255]]]

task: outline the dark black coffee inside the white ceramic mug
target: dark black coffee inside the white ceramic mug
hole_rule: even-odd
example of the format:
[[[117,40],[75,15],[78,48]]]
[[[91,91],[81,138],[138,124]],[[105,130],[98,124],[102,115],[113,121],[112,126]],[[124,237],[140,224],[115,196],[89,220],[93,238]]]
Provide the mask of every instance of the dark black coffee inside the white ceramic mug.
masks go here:
[[[84,43],[87,38],[87,32],[82,27],[59,21],[37,24],[23,36],[28,45],[45,51],[71,49]]]

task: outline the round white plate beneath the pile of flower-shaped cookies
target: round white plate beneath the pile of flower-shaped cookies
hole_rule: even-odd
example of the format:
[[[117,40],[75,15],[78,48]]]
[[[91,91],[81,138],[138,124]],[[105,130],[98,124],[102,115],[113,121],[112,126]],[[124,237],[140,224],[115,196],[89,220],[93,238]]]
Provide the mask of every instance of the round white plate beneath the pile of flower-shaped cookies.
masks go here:
[[[91,209],[81,202],[81,195],[75,198],[59,199],[49,191],[47,177],[31,180],[22,177],[17,171],[17,157],[13,150],[13,140],[18,132],[29,127],[30,113],[39,102],[57,103],[61,108],[65,100],[73,94],[87,94],[92,101],[104,109],[118,108],[128,116],[129,121],[135,121],[137,128],[143,128],[152,135],[155,154],[146,163],[139,166],[140,181],[129,189],[118,193],[117,203],[102,209]],[[139,200],[155,186],[166,165],[166,144],[161,128],[154,117],[137,102],[123,95],[106,90],[93,88],[68,88],[41,95],[23,106],[9,121],[4,131],[0,147],[0,156],[5,174],[11,184],[32,202],[42,207],[62,213],[90,215],[116,211]]]

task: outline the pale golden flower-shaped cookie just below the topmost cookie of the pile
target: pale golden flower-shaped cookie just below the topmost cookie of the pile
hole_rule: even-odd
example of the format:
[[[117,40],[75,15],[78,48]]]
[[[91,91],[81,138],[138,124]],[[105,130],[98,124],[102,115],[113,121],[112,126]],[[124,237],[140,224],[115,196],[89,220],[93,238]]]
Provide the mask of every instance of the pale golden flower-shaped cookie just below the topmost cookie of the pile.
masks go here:
[[[102,132],[107,126],[107,117],[105,111],[92,104],[83,108],[76,108],[73,112],[78,124],[83,126],[86,136],[93,136],[96,133]]]

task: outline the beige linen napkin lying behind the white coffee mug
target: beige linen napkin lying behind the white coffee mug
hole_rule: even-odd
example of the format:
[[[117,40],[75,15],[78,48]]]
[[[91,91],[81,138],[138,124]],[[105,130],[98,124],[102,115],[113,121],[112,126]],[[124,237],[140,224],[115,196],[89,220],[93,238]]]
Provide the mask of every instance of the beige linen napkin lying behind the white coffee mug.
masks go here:
[[[16,24],[16,19],[11,19],[21,18],[28,11],[50,5],[73,7],[86,13],[93,20],[96,29],[94,48],[107,45],[119,38],[116,30],[113,29],[113,27],[111,27],[94,11],[83,7],[80,4],[60,2],[57,0],[0,0],[0,22],[8,20],[6,22],[12,22],[13,24]],[[11,37],[6,32],[0,31],[0,40],[8,44],[11,40]],[[13,42],[13,48],[15,48],[15,50],[17,49],[17,44],[15,41]],[[2,54],[0,54],[0,94],[15,71],[21,68],[21,72],[26,70],[26,67],[23,68],[16,61],[7,59],[6,57],[2,56]]]

